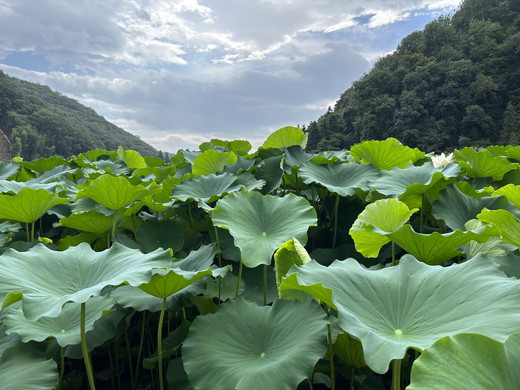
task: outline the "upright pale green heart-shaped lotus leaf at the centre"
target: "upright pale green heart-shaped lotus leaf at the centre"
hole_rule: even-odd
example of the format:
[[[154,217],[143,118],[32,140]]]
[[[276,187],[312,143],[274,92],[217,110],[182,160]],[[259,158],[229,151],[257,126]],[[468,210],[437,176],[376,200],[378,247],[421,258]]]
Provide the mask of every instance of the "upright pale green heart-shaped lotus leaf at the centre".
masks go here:
[[[305,245],[316,211],[304,198],[259,192],[237,192],[217,202],[211,214],[215,226],[228,229],[247,267],[271,264],[276,249],[292,237]]]

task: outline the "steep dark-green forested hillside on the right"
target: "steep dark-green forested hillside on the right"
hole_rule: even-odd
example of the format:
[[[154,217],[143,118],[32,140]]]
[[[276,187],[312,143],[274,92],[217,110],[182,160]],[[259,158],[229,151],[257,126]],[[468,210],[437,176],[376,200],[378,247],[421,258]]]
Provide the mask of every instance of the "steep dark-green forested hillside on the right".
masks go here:
[[[520,1],[465,0],[404,38],[308,126],[310,151],[395,137],[432,151],[520,143]]]

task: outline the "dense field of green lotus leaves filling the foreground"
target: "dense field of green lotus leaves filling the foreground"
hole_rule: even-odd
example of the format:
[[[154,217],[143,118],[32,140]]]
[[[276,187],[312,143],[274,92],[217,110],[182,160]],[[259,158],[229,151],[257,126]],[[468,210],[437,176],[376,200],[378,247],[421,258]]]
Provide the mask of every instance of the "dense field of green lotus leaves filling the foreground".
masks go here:
[[[305,144],[0,163],[0,388],[517,389],[520,147]]]

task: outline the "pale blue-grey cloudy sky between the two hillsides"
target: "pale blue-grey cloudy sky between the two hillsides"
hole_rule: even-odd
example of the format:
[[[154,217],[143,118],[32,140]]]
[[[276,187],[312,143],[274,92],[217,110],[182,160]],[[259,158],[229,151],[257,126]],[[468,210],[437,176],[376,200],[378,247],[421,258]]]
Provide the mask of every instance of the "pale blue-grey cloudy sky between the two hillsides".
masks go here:
[[[157,149],[316,120],[460,0],[0,0],[0,69]]]

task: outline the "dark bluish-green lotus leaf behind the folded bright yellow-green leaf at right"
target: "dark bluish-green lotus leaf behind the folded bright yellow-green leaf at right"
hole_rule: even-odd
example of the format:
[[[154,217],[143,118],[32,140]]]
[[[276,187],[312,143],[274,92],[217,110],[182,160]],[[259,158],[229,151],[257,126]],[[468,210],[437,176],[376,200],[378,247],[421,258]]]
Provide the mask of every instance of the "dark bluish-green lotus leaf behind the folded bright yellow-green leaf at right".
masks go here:
[[[440,198],[432,206],[432,215],[443,219],[451,229],[464,229],[464,225],[476,218],[482,209],[509,209],[512,206],[504,196],[475,198],[463,193],[457,185],[450,185],[440,192]]]

